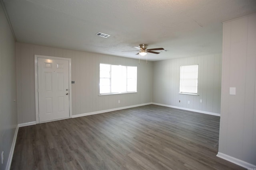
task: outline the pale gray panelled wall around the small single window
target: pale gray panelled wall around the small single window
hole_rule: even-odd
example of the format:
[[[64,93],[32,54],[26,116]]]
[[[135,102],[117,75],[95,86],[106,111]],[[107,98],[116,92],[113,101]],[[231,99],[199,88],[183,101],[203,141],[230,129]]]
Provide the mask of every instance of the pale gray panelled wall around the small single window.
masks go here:
[[[180,66],[192,64],[198,64],[199,96],[178,94],[180,92]],[[168,106],[219,114],[221,65],[221,54],[154,62],[152,101]],[[200,103],[200,99],[202,99],[202,103]]]

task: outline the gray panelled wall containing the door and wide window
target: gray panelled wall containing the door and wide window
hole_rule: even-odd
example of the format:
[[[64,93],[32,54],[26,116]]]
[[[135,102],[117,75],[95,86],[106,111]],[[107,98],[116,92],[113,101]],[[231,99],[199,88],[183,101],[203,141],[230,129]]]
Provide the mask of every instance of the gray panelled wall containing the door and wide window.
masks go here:
[[[36,121],[34,55],[71,58],[72,115],[152,101],[152,62],[41,45],[16,43],[18,123]],[[100,63],[138,66],[138,93],[99,95]],[[118,104],[120,100],[120,104]]]

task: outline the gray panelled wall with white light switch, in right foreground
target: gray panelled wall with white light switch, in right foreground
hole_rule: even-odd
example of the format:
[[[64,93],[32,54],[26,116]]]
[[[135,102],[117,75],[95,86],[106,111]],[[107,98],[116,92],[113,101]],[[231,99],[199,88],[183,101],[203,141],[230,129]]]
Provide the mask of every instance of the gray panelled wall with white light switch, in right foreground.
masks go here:
[[[256,14],[224,23],[222,63],[219,152],[256,166]]]

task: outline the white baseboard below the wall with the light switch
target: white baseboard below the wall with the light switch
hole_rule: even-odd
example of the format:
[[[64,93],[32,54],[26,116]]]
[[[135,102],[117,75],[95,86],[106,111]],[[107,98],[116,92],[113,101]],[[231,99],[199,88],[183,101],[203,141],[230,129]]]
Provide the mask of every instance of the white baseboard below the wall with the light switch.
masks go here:
[[[249,169],[256,169],[256,165],[250,164],[248,162],[245,162],[243,160],[234,158],[232,156],[229,156],[229,155],[221,153],[221,152],[218,152],[218,154],[216,156],[218,156],[219,158],[225,159],[225,160],[227,160],[229,162],[232,162],[234,164],[237,164],[239,166],[242,166],[242,167],[244,167],[244,168],[246,168],[248,170]]]

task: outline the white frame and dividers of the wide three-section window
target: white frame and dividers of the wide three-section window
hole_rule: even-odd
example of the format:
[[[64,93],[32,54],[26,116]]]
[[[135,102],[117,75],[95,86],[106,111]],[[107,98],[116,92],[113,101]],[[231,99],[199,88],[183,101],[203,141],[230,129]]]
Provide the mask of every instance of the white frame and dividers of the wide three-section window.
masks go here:
[[[110,93],[100,93],[100,79],[101,79],[101,77],[100,77],[100,72],[99,72],[99,96],[105,96],[105,95],[114,95],[114,94],[129,94],[129,93],[137,93],[137,85],[138,85],[138,79],[137,79],[137,77],[138,77],[138,67],[137,66],[127,66],[127,65],[121,65],[121,64],[108,64],[108,63],[100,63],[100,64],[107,64],[107,65],[109,65],[110,66],[110,75],[109,75],[109,81],[110,81]],[[100,70],[100,64],[99,64],[99,70]],[[125,72],[125,74],[126,74],[126,91],[125,92],[111,92],[111,90],[112,90],[112,81],[111,81],[111,78],[112,78],[112,75],[111,75],[111,72],[112,72],[112,67],[111,66],[125,66],[126,67],[126,72]],[[135,91],[131,91],[131,92],[128,92],[127,91],[127,86],[128,86],[128,77],[127,77],[127,75],[128,75],[128,72],[127,72],[127,68],[128,67],[136,67],[136,77],[135,77],[135,80],[136,80],[136,84],[135,84]]]

